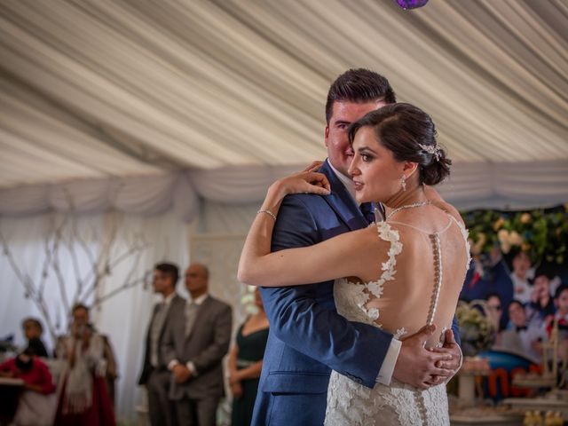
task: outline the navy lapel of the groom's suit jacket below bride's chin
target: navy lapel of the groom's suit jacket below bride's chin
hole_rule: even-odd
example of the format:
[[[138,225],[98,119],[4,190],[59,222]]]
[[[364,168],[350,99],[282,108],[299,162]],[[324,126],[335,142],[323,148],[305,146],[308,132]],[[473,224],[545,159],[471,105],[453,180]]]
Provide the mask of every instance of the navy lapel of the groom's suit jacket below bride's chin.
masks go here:
[[[366,228],[368,225],[367,219],[363,217],[357,202],[351,197],[351,193],[347,191],[339,177],[335,176],[334,170],[328,164],[328,160],[321,165],[319,172],[324,173],[327,179],[329,179],[331,193],[324,196],[324,200],[327,201],[329,207],[334,209],[337,216],[343,220],[351,231]]]

